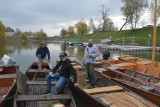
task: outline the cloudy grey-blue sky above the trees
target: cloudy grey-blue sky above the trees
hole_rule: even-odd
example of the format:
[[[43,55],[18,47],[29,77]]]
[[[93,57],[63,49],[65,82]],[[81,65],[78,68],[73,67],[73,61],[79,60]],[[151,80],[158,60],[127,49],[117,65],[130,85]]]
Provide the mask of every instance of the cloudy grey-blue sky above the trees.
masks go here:
[[[95,22],[98,9],[104,4],[109,8],[109,17],[120,28],[123,16],[121,0],[0,0],[0,20],[5,26],[22,31],[40,31],[48,36],[59,35],[60,30],[73,26],[81,19]],[[148,15],[144,15],[145,17]],[[148,21],[147,21],[148,22]]]

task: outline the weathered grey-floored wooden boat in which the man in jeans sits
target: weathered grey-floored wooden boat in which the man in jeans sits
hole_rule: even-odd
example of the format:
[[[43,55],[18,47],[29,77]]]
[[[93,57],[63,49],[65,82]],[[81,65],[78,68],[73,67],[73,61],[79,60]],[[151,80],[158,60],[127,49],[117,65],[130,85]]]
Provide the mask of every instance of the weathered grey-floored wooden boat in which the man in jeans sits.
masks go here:
[[[24,94],[17,94],[14,98],[14,107],[53,107],[61,104],[60,107],[76,107],[69,89],[64,87],[59,94],[55,94],[54,86],[56,80],[52,81],[51,94],[44,94],[46,91],[45,77],[49,72],[46,63],[42,64],[42,70],[38,70],[38,64],[34,62],[26,72],[26,91]],[[23,83],[24,84],[24,83]]]

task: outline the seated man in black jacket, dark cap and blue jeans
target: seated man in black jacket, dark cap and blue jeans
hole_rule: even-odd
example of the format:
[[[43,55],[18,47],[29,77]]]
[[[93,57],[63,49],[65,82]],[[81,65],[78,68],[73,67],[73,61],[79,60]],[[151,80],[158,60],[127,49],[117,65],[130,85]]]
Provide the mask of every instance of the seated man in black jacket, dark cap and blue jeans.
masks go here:
[[[77,82],[77,73],[73,68],[71,61],[68,59],[67,53],[60,53],[59,54],[60,61],[57,65],[53,68],[53,72],[49,72],[47,76],[47,91],[45,94],[51,92],[51,80],[58,79],[58,82],[55,85],[56,94],[58,94],[61,89],[68,83],[68,80],[71,74],[74,76],[74,83],[75,86],[78,85]],[[59,72],[55,73],[57,69],[60,69]]]

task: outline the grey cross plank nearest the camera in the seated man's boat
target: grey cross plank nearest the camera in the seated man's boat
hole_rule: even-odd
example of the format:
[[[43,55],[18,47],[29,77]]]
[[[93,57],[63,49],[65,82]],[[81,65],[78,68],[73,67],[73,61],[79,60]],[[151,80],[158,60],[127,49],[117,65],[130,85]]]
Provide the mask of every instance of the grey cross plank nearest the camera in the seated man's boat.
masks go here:
[[[47,100],[68,100],[71,99],[70,94],[59,95],[17,95],[16,101],[47,101]]]

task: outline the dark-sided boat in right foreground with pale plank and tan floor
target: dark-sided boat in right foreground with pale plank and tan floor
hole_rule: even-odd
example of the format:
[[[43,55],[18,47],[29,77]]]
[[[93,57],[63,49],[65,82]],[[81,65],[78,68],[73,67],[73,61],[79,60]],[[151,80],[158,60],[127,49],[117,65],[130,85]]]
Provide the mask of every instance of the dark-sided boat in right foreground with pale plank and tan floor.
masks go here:
[[[78,71],[82,72],[82,71]],[[86,88],[85,86],[75,87],[70,85],[70,89],[77,93],[89,107],[155,107],[150,101],[139,95],[122,88],[115,82],[106,78],[101,73],[96,72],[96,87]]]

